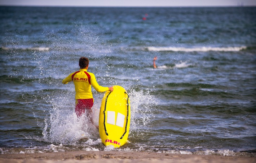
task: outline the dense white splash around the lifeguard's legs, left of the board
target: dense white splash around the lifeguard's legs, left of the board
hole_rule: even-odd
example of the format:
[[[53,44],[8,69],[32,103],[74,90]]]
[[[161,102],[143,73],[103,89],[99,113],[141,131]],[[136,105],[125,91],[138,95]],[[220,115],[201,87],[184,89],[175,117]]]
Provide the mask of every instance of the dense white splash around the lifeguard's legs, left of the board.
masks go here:
[[[93,138],[96,134],[96,127],[88,122],[85,115],[77,118],[74,112],[53,109],[50,117],[45,118],[43,139],[47,142],[73,144],[81,138]]]

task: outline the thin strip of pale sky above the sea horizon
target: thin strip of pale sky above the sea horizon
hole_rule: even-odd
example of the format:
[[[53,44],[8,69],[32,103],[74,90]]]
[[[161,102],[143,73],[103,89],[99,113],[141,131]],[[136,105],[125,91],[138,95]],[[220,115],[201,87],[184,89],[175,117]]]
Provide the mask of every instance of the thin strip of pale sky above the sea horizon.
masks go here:
[[[256,0],[0,0],[0,6],[203,7],[256,6]]]

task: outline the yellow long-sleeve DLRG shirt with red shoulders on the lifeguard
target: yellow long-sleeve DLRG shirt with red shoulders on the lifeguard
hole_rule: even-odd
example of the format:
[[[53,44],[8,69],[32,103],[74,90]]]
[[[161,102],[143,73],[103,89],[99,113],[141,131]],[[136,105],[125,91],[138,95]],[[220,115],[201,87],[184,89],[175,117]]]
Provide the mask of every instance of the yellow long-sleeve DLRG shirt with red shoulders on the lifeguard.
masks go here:
[[[80,69],[79,71],[69,74],[67,78],[62,80],[62,83],[67,84],[71,81],[73,81],[75,85],[75,99],[93,98],[92,87],[97,92],[105,92],[109,90],[108,87],[100,86],[96,81],[95,75],[93,73],[87,72],[87,69]]]

